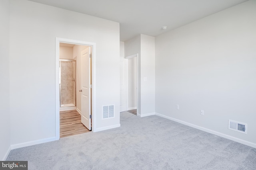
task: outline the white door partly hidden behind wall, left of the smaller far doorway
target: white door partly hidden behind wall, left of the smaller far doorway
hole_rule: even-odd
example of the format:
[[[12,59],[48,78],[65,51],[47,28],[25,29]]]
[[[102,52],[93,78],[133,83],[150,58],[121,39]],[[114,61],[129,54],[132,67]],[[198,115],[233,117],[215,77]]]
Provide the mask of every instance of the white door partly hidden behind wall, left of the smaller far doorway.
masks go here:
[[[120,112],[126,111],[126,61],[120,57]]]

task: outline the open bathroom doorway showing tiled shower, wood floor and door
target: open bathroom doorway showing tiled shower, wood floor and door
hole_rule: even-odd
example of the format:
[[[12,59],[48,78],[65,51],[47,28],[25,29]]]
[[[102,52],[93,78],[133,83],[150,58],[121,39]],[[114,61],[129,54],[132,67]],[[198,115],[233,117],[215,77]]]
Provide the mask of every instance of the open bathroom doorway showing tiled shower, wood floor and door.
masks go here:
[[[56,138],[92,130],[92,47],[56,38]]]

